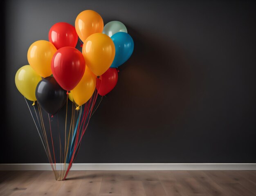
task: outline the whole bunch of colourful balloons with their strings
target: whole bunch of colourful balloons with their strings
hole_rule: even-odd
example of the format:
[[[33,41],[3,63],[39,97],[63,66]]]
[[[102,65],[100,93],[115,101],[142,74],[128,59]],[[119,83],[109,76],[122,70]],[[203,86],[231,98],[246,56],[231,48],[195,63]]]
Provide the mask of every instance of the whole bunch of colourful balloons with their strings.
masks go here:
[[[82,52],[75,48],[78,39]],[[17,71],[15,84],[26,101],[34,101],[32,106],[28,102],[27,105],[56,180],[65,180],[89,120],[97,109],[94,106],[98,94],[104,96],[116,86],[117,67],[130,58],[133,48],[132,37],[123,23],[112,21],[104,26],[99,13],[92,10],[79,13],[75,27],[66,22],[54,24],[49,30],[49,41],[39,40],[29,47],[29,65]],[[68,98],[72,101],[71,112],[68,112]],[[65,104],[65,129],[62,131],[58,111]],[[61,168],[56,166],[54,119],[58,125]]]

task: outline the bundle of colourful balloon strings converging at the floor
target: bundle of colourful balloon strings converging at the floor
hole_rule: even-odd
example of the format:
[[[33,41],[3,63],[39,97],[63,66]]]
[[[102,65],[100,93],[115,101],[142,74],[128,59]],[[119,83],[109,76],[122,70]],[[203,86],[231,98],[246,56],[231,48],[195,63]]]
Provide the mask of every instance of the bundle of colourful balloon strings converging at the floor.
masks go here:
[[[81,147],[81,141],[82,141],[82,137],[85,133],[85,130],[88,128],[88,124],[89,124],[89,120],[92,117],[92,115],[94,114],[94,112],[97,110],[97,108],[99,107],[99,104],[101,103],[103,97],[101,97],[101,101],[99,102],[99,104],[97,105],[97,107],[94,109],[94,106],[96,104],[97,101],[97,96],[98,96],[98,92],[95,90],[93,96],[89,99],[89,101],[87,103],[85,103],[84,107],[81,106],[81,110],[77,113],[79,113],[77,120],[76,120],[76,110],[74,110],[74,103],[72,103],[72,117],[71,117],[71,121],[70,121],[70,130],[68,133],[68,137],[67,137],[67,108],[68,106],[66,106],[66,117],[65,117],[65,150],[64,150],[64,154],[62,153],[62,145],[61,145],[61,134],[60,134],[60,129],[59,129],[59,122],[58,122],[58,115],[57,115],[57,127],[58,127],[58,135],[59,135],[59,149],[60,149],[60,161],[61,163],[65,163],[65,164],[61,164],[61,170],[57,170],[56,168],[56,156],[55,156],[55,150],[54,150],[54,142],[53,142],[53,136],[52,136],[52,125],[51,125],[51,120],[50,120],[50,116],[48,114],[48,120],[49,120],[49,129],[50,129],[50,137],[52,140],[52,152],[53,152],[53,156],[51,154],[51,150],[49,148],[49,143],[47,140],[47,134],[46,134],[46,129],[45,129],[45,125],[44,125],[44,120],[43,120],[43,115],[42,115],[42,110],[38,104],[38,112],[39,112],[39,117],[40,117],[40,121],[41,121],[41,126],[39,123],[39,118],[37,116],[37,112],[36,112],[36,108],[34,107],[35,113],[36,113],[36,119],[38,121],[38,125],[36,124],[36,120],[29,108],[29,111],[31,113],[31,116],[34,120],[34,123],[36,125],[38,134],[40,136],[40,139],[43,143],[43,147],[45,149],[45,152],[47,154],[47,158],[49,160],[49,163],[52,167],[52,170],[54,172],[54,176],[56,180],[65,180],[70,168],[72,167],[72,164],[74,163],[74,160],[76,159],[76,156],[79,152],[79,149]],[[68,99],[68,97],[67,97]],[[25,99],[26,100],[26,99]],[[27,102],[27,100],[26,100]],[[28,105],[28,103],[27,103]],[[29,106],[28,106],[29,107]],[[76,126],[75,126],[75,121],[76,121]],[[42,132],[42,136],[39,132],[39,128]],[[72,131],[71,131],[72,130]],[[72,135],[72,136],[71,136]],[[43,137],[43,138],[42,138]],[[71,142],[70,142],[71,140]],[[67,156],[69,154],[69,156]],[[63,157],[64,155],[64,157]],[[64,159],[63,159],[64,158]],[[54,162],[53,162],[54,160]],[[66,167],[66,163],[68,164],[68,167]],[[65,175],[65,176],[64,176]]]

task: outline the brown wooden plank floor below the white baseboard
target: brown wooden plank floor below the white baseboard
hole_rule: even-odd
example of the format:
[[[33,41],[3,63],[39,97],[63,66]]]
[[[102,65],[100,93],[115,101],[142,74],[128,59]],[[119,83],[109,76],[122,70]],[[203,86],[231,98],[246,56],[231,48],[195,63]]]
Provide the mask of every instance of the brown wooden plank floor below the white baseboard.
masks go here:
[[[0,196],[255,196],[256,171],[0,171]]]

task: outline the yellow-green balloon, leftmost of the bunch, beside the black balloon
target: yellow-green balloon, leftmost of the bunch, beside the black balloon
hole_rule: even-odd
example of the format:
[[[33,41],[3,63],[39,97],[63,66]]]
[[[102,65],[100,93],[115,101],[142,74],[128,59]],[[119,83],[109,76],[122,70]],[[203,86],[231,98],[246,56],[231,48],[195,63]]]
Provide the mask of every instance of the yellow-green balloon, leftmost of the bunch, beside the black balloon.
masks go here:
[[[21,67],[15,75],[16,87],[30,101],[36,101],[36,86],[40,80],[40,75],[29,65]]]

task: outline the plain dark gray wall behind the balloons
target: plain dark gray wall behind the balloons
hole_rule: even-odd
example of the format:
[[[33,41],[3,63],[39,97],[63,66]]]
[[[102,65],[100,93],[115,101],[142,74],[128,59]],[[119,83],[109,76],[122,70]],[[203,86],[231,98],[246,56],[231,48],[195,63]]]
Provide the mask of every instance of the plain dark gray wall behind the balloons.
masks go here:
[[[256,6],[210,0],[6,2],[2,163],[47,163],[14,76],[32,42],[85,9],[123,22],[135,50],[76,163],[256,163]]]

